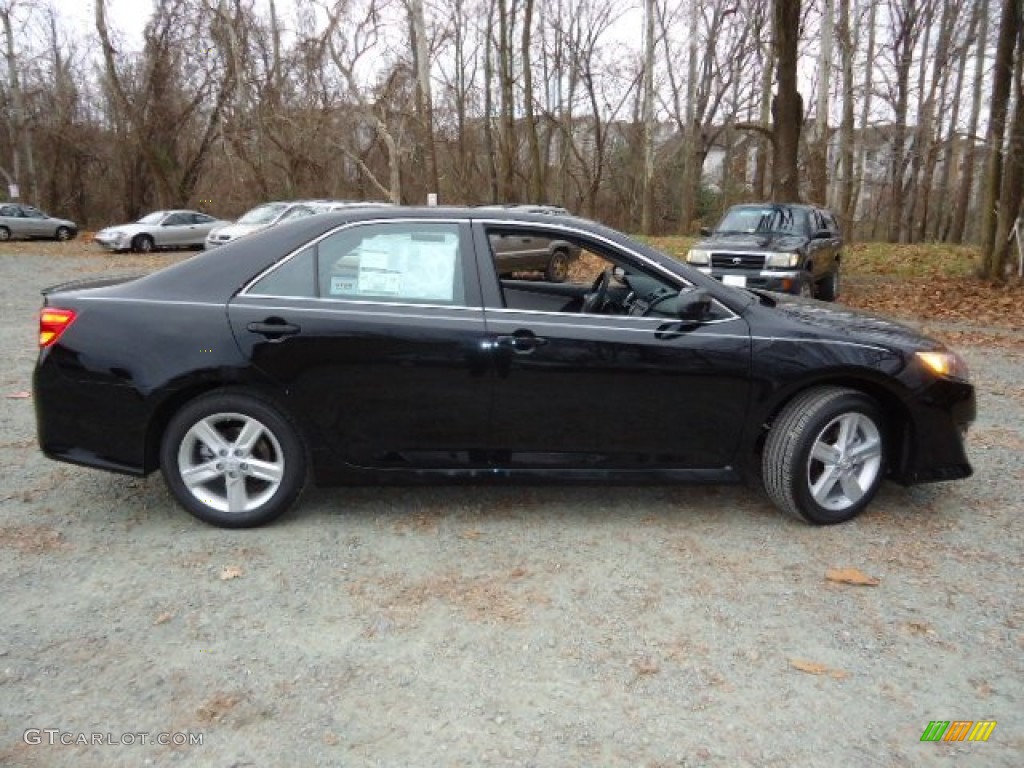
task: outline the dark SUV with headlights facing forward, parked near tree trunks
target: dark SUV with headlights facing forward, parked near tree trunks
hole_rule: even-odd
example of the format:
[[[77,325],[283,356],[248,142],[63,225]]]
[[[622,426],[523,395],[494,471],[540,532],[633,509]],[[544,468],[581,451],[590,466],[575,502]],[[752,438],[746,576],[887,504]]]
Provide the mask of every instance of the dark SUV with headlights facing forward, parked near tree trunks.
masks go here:
[[[831,301],[839,296],[843,239],[830,211],[758,203],[733,206],[686,261],[726,285]]]

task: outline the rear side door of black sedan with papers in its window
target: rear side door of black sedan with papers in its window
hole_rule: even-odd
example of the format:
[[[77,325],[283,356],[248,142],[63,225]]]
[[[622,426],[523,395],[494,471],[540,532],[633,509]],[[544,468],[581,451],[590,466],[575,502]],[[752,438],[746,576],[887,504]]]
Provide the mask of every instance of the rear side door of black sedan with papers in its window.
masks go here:
[[[254,367],[335,466],[485,466],[489,354],[468,222],[346,224],[229,304]]]

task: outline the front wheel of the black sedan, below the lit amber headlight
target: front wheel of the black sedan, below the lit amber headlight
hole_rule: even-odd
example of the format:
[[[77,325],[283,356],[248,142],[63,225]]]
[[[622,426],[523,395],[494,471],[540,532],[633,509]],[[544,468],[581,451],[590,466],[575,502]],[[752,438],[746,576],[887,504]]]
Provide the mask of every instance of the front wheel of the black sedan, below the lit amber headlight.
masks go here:
[[[836,449],[829,440],[835,436],[839,444],[844,424],[850,427],[848,438]],[[835,452],[833,463],[812,454],[816,449]],[[815,387],[791,400],[772,424],[761,457],[768,498],[783,512],[816,525],[856,517],[885,474],[882,412],[870,397],[843,387]]]

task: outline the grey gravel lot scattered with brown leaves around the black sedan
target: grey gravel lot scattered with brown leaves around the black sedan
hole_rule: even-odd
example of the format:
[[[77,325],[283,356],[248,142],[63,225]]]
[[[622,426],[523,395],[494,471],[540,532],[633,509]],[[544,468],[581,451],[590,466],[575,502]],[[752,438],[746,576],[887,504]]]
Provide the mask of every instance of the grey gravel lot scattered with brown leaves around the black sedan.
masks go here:
[[[89,251],[0,249],[0,764],[1021,765],[1018,344],[963,350],[976,475],[847,525],[732,487],[355,488],[228,531],[36,449],[39,289],[179,258]]]

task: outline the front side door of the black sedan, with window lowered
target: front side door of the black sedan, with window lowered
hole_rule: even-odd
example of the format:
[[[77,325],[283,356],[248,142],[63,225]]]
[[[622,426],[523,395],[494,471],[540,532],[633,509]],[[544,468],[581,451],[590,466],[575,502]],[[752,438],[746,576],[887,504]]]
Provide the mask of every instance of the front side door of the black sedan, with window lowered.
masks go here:
[[[662,299],[692,287],[570,228],[523,225],[532,237],[580,246],[581,268],[591,265],[599,280],[621,270],[625,285],[608,290],[611,305],[595,303],[589,281],[501,279],[488,247],[493,228],[509,225],[478,222],[475,242],[497,372],[496,463],[513,470],[721,470],[732,463],[751,387],[741,317],[718,304],[700,323],[658,313],[652,307]],[[630,301],[633,313],[624,313]]]

